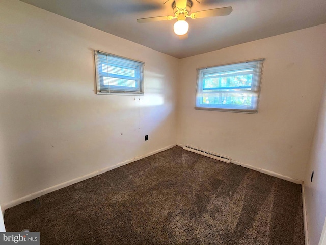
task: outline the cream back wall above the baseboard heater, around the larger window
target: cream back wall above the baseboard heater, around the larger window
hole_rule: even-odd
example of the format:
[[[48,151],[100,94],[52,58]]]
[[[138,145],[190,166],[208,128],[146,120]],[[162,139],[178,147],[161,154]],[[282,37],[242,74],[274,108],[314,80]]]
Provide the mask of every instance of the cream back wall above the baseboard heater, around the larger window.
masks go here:
[[[177,143],[303,180],[325,82],[326,24],[180,63]],[[265,58],[258,114],[195,110],[196,68]]]

